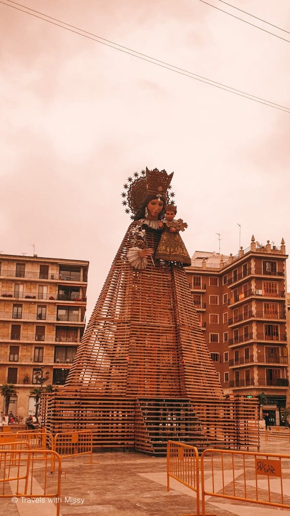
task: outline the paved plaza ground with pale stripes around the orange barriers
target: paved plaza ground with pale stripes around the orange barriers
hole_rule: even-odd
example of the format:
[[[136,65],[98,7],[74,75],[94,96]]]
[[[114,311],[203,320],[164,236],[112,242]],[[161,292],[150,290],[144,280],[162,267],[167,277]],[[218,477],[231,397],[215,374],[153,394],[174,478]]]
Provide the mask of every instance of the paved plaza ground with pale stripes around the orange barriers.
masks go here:
[[[261,442],[261,451],[289,454],[290,443],[275,438]],[[289,477],[285,495],[290,496]],[[166,458],[151,457],[124,451],[93,455],[93,464],[88,457],[63,459],[61,480],[62,516],[181,516],[196,513],[196,495],[176,480],[170,479],[170,491],[166,488]],[[284,473],[284,472],[283,472]],[[34,472],[41,485],[41,464]],[[216,481],[221,481],[218,472]],[[266,480],[265,480],[266,481]],[[237,478],[238,485],[238,478]],[[274,489],[275,490],[275,489]],[[289,499],[289,498],[288,498]],[[206,513],[217,516],[277,516],[286,509],[248,504],[216,497],[207,497]],[[2,499],[0,515],[6,516],[55,516],[53,503],[27,504],[19,499]]]

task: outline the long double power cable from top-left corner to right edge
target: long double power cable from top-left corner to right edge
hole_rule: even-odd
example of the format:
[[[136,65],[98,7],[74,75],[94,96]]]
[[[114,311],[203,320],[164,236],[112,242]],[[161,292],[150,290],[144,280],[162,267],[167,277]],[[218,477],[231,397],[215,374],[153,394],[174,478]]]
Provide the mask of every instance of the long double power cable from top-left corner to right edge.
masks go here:
[[[277,104],[275,102],[268,101],[267,99],[263,99],[261,97],[258,97],[256,95],[252,95],[251,93],[248,93],[243,90],[238,90],[236,88],[233,88],[232,86],[228,86],[222,83],[218,83],[212,79],[208,79],[207,77],[204,77],[202,75],[195,74],[194,72],[189,72],[188,70],[185,70],[183,68],[176,67],[174,65],[171,65],[170,63],[167,63],[165,61],[161,61],[159,59],[156,59],[155,57],[148,56],[147,54],[142,54],[138,51],[135,51],[133,49],[130,49],[129,47],[119,45],[118,43],[115,43],[114,41],[110,41],[105,38],[101,38],[100,36],[97,36],[93,33],[90,33],[84,29],[80,29],[74,25],[70,25],[66,22],[63,22],[61,20],[58,20],[57,18],[52,18],[48,14],[44,14],[40,11],[36,11],[35,9],[30,9],[30,7],[26,7],[24,5],[21,5],[17,2],[12,2],[12,0],[7,0],[8,2],[11,2],[10,4],[7,4],[3,0],[0,0],[0,4],[6,5],[7,7],[11,7],[13,9],[16,9],[20,12],[23,12],[25,14],[29,14],[30,16],[33,16],[35,18],[38,18],[42,21],[45,21],[47,23],[51,23],[52,25],[56,25],[57,27],[63,28],[65,30],[68,30],[74,34],[77,34],[78,36],[83,36],[87,39],[90,39],[96,43],[101,43],[103,45],[109,46],[112,49],[118,50],[119,52],[123,52],[125,54],[131,55],[133,57],[137,57],[138,59],[142,59],[143,61],[147,61],[152,63],[153,65],[159,66],[161,68],[165,68],[167,70],[171,70],[172,72],[179,73],[181,75],[185,75],[186,77],[189,77],[191,79],[198,80],[204,84],[208,84],[210,86],[214,86],[215,88],[223,89],[225,91],[228,91],[230,93],[234,93],[235,95],[243,96],[245,99],[255,101],[260,104],[264,104],[268,107],[272,107],[275,109],[279,109],[281,111],[290,112],[290,108],[283,106],[281,104]],[[201,0],[202,1],[202,0]],[[14,4],[14,5],[11,5]],[[210,5],[210,4],[208,4]],[[16,7],[18,6],[18,7]],[[20,9],[22,7],[23,9]],[[27,9],[27,10],[24,10]],[[31,12],[29,12],[31,11]],[[37,14],[34,14],[37,13]],[[47,19],[49,18],[49,19]],[[57,23],[56,23],[57,22]]]

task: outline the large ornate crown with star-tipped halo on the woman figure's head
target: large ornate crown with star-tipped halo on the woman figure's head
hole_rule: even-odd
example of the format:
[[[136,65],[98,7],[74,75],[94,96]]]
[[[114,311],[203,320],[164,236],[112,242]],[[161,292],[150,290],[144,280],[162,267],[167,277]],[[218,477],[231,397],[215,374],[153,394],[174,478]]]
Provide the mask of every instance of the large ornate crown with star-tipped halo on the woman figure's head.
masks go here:
[[[171,189],[170,182],[173,176],[167,174],[165,170],[142,170],[139,175],[138,172],[134,173],[134,178],[129,177],[128,183],[123,185],[124,191],[121,193],[123,198],[122,204],[125,206],[125,212],[131,214],[131,218],[134,219],[144,197],[147,194],[152,193],[153,195],[165,197],[166,204],[170,201],[169,199],[174,197],[174,192],[168,192]]]

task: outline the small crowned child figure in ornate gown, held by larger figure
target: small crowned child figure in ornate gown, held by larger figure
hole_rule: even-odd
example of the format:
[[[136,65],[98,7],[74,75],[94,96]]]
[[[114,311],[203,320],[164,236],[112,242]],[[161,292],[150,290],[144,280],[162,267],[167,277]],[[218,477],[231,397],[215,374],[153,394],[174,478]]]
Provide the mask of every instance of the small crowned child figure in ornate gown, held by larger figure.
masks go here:
[[[190,256],[179,234],[180,231],[187,228],[187,223],[182,219],[174,219],[176,211],[174,204],[168,204],[165,208],[165,219],[158,222],[158,227],[163,229],[163,232],[155,252],[155,258],[188,267],[191,265]]]

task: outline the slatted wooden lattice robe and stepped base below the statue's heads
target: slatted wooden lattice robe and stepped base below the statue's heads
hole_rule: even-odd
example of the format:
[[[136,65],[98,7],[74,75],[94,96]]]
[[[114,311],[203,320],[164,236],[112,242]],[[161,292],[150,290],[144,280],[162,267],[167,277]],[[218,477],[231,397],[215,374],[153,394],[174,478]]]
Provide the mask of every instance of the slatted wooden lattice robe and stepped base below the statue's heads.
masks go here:
[[[229,445],[248,446],[236,418],[257,419],[256,404],[224,399],[184,269],[149,261],[138,271],[128,263],[136,224],[112,263],[65,386],[43,399],[43,423],[53,433],[91,428],[95,447],[149,453],[165,453],[168,439],[220,445],[225,425]],[[156,249],[158,232],[146,236]]]

